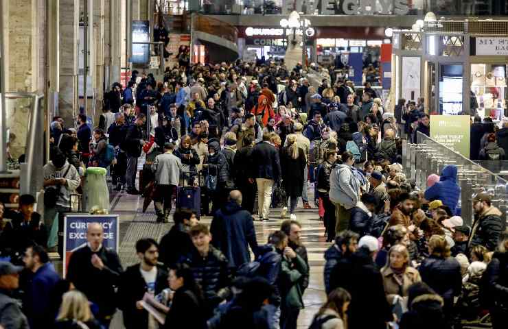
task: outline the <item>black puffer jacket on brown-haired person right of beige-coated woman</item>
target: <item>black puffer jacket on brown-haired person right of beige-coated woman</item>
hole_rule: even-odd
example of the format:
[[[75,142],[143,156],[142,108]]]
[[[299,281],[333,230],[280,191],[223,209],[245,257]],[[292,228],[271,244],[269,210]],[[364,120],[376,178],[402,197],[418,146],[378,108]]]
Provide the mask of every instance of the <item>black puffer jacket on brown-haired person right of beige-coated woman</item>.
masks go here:
[[[453,297],[459,296],[462,289],[461,265],[453,258],[429,256],[418,267],[422,281],[438,293],[445,304],[451,306]]]

